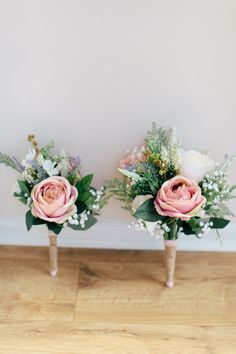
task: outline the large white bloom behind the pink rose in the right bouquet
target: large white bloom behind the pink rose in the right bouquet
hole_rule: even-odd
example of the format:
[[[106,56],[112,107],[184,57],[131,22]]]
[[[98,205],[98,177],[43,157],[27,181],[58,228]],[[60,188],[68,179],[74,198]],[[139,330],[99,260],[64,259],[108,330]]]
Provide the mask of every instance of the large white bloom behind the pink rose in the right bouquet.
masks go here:
[[[204,175],[213,169],[215,163],[206,154],[201,154],[196,150],[179,150],[181,157],[181,176],[192,179],[199,183]]]

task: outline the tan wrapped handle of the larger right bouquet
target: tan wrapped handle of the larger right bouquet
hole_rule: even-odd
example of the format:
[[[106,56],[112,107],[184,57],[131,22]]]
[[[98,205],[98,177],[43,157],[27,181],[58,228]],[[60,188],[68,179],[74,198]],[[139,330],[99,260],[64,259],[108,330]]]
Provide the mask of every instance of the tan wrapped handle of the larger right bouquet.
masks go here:
[[[166,286],[173,288],[175,277],[176,240],[165,240]]]

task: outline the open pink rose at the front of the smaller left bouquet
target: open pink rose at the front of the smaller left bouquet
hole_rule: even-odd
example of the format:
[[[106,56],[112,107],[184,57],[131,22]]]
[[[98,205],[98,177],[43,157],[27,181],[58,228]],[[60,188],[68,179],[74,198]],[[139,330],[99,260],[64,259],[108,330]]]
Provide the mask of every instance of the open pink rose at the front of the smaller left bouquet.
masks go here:
[[[46,178],[34,186],[32,214],[40,219],[63,224],[77,211],[78,191],[64,177]]]

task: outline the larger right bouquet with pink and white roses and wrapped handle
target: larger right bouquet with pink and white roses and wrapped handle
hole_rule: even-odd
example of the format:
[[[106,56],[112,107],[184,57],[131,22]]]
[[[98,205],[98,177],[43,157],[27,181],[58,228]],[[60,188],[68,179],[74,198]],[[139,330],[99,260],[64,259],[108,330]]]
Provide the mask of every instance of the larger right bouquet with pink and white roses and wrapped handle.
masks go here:
[[[165,242],[168,287],[174,285],[176,240],[179,235],[203,237],[224,228],[232,215],[226,202],[233,198],[226,170],[232,158],[215,163],[206,154],[184,151],[175,132],[153,124],[145,144],[127,151],[108,188],[136,218],[137,230],[162,236]]]

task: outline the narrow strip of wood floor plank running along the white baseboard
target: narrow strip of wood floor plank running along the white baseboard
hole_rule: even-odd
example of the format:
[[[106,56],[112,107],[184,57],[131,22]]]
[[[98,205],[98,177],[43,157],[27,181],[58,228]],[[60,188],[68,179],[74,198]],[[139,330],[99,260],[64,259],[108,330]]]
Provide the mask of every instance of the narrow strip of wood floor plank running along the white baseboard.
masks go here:
[[[0,259],[31,259],[39,262],[47,262],[47,247],[25,246],[0,246]],[[183,252],[178,251],[178,259],[183,263],[192,264],[198,259],[199,262],[215,264],[216,262],[235,264],[233,252]],[[120,263],[160,263],[163,264],[162,251],[122,251],[81,248],[59,248],[59,261],[61,262],[120,262]],[[40,263],[39,263],[40,264]]]

